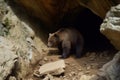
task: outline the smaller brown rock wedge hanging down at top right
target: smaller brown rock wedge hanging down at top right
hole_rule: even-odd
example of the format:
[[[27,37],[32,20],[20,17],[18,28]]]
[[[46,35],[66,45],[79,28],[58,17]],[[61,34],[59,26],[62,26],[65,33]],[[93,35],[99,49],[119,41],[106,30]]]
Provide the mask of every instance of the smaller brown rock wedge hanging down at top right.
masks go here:
[[[78,2],[93,11],[102,19],[105,17],[105,14],[110,7],[115,4],[112,0],[78,0]]]

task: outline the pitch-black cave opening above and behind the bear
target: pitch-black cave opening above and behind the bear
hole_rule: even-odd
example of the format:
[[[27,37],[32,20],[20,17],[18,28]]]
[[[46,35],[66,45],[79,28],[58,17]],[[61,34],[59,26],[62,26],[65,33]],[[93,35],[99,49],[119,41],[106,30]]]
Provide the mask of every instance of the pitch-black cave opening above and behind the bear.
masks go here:
[[[78,12],[77,12],[78,11]],[[60,26],[72,26],[78,29],[84,37],[84,49],[88,51],[103,51],[114,49],[110,41],[100,33],[102,19],[89,9],[68,12],[60,22]]]

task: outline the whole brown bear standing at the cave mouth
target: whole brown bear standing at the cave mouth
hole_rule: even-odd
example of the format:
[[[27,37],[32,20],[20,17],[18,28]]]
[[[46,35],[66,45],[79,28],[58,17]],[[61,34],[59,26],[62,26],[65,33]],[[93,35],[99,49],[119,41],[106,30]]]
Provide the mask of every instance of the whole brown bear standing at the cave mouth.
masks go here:
[[[49,33],[48,47],[58,47],[62,52],[61,58],[67,58],[71,53],[76,53],[76,57],[81,57],[84,40],[76,29],[61,28],[54,33]]]

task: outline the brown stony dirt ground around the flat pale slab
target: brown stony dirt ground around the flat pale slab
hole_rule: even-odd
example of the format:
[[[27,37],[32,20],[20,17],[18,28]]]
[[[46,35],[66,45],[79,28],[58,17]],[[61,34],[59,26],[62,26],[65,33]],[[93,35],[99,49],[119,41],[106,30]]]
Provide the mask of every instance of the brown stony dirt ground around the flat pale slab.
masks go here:
[[[81,75],[94,75],[105,63],[110,61],[115,50],[106,50],[101,52],[86,52],[81,58],[76,59],[74,55],[65,60],[65,73],[60,76],[52,76],[54,80],[80,80]],[[37,71],[41,65],[60,60],[60,55],[48,54],[39,62],[34,71]],[[36,77],[33,74],[29,76],[29,80],[46,80],[44,77]],[[48,79],[52,80],[52,79]]]

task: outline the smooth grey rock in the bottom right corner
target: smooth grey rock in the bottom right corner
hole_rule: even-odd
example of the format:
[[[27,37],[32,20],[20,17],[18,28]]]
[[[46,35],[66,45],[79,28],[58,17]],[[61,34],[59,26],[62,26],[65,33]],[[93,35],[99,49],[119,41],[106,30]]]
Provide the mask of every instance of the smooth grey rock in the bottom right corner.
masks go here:
[[[90,80],[120,80],[120,52],[114,58],[103,65],[96,76]]]

